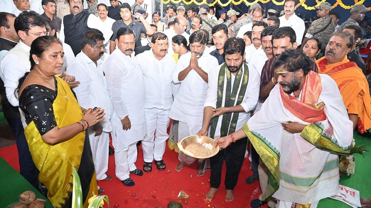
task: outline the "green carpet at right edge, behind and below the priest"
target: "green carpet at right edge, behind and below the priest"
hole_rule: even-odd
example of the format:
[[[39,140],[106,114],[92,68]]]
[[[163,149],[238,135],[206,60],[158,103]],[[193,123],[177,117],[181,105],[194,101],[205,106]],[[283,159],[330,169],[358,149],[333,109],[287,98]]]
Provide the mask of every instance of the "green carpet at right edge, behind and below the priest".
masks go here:
[[[365,144],[366,149],[371,151],[371,138],[362,137],[358,135],[356,132],[354,133],[354,140],[356,144]],[[370,174],[371,174],[371,153],[364,153],[365,158],[362,155],[355,154],[355,171],[352,175],[347,175],[345,173],[341,174],[339,184],[345,185],[347,187],[356,189],[359,191],[360,197],[371,198],[371,188],[370,188]],[[350,206],[345,204],[344,202],[325,198],[319,201],[317,206],[318,208],[329,208],[329,207],[336,207],[336,208],[349,208]]]

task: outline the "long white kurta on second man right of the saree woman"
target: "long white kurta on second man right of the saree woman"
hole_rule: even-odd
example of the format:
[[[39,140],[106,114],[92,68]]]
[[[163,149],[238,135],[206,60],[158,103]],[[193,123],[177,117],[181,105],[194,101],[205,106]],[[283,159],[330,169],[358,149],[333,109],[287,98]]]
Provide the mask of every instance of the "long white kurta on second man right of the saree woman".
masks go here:
[[[126,151],[129,145],[142,140],[147,134],[142,72],[138,64],[121,50],[114,50],[103,66],[108,94],[115,112],[111,118],[112,144],[116,151]],[[121,120],[127,115],[131,129],[125,131],[122,130]]]

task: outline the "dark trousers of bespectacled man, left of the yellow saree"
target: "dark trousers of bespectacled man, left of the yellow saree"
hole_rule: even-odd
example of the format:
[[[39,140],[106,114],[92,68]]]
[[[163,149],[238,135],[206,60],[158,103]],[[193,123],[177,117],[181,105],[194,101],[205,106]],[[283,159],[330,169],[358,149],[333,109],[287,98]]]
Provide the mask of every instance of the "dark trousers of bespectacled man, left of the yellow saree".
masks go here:
[[[38,170],[32,160],[30,149],[28,147],[26,137],[24,136],[24,128],[20,118],[7,118],[10,128],[16,135],[16,144],[18,150],[20,174],[35,187],[38,185],[37,179]]]

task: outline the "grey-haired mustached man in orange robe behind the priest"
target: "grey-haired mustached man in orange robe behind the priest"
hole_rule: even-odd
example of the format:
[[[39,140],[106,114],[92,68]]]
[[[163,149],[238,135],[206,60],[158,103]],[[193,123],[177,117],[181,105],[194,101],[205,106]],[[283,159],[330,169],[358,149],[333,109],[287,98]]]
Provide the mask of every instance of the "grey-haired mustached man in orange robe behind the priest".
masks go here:
[[[363,134],[371,128],[370,89],[362,70],[350,62],[347,53],[353,46],[349,33],[336,31],[326,46],[325,57],[316,61],[319,73],[328,74],[339,87],[353,129]]]

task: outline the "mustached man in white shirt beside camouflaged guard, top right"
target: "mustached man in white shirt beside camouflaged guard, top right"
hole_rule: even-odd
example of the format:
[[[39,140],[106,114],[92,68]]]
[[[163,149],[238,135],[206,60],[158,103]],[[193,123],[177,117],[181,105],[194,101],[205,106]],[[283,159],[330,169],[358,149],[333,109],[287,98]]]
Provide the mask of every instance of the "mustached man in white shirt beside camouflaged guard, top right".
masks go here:
[[[296,2],[297,0],[285,0],[283,11],[285,15],[279,17],[280,27],[291,27],[296,32],[296,43],[301,44],[304,36],[305,24],[304,20],[296,16]]]

